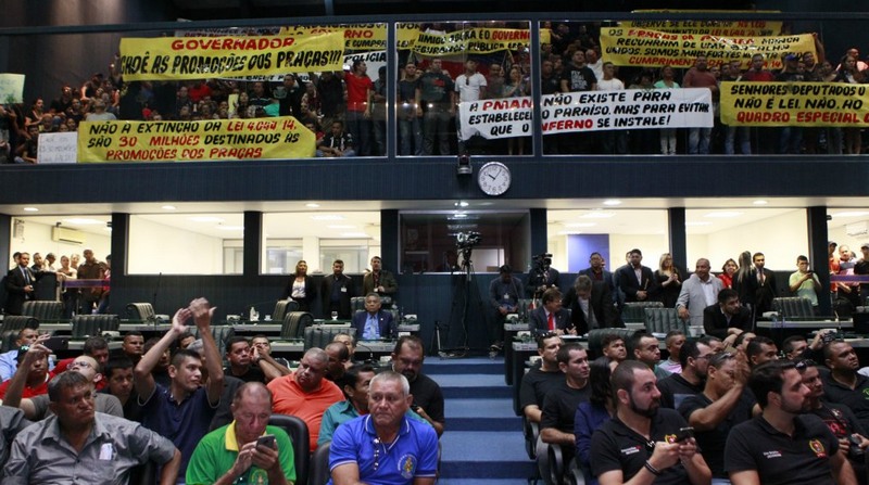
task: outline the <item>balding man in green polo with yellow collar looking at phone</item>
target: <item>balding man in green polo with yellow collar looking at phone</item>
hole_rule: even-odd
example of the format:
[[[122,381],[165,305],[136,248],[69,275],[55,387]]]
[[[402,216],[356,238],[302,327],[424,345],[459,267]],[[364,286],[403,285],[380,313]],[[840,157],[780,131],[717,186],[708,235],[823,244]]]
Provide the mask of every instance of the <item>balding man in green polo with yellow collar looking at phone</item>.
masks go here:
[[[187,465],[187,483],[293,483],[292,442],[282,429],[267,425],[272,416],[268,388],[261,382],[245,383],[236,392],[231,409],[232,422],[197,445]]]

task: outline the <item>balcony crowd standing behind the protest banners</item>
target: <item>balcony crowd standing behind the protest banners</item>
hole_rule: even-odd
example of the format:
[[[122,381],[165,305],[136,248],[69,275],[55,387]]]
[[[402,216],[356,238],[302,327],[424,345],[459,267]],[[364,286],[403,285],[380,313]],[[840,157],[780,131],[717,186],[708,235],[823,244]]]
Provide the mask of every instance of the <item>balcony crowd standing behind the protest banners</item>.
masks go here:
[[[444,34],[461,28],[527,29],[527,23],[431,23],[423,30]],[[783,54],[781,69],[756,54],[748,68],[740,61],[710,65],[700,55],[688,69],[670,66],[616,66],[602,55],[601,23],[544,22],[551,33],[533,54],[541,78],[531,76],[528,48],[494,54],[466,54],[463,62],[424,58],[399,51],[395,116],[402,156],[462,153],[525,154],[529,140],[484,140],[456,137],[457,104],[483,99],[531,94],[540,82],[543,94],[621,89],[708,88],[714,128],[610,130],[553,135],[544,138],[551,154],[859,154],[856,128],[755,128],[721,125],[718,110],[722,81],[844,82],[866,81],[866,63],[856,48],[829,59],[815,35],[815,51]],[[317,136],[317,155],[382,156],[386,154],[387,69],[368,73],[362,60],[340,72],[287,74],[280,80],[207,78],[191,81],[125,81],[115,59],[109,74],[95,73],[80,88],[61,87],[60,95],[41,97],[27,105],[0,109],[0,157],[36,163],[38,135],[75,131],[81,120],[201,120],[294,116]]]

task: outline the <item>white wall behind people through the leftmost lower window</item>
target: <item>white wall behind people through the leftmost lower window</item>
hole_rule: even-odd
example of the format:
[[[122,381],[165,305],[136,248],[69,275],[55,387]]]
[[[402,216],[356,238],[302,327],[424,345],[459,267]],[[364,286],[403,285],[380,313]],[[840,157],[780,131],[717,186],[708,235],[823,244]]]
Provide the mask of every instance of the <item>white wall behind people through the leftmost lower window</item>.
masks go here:
[[[15,218],[12,218],[12,224],[15,224]],[[70,256],[71,254],[81,255],[85,250],[92,250],[93,255],[99,260],[105,260],[105,256],[112,251],[111,237],[112,233],[104,231],[104,234],[96,234],[85,232],[84,244],[72,244],[64,242],[54,242],[51,240],[51,228],[53,226],[46,224],[38,224],[34,221],[24,222],[24,237],[12,238],[10,242],[11,253],[30,253],[30,264],[33,264],[33,254],[39,253],[42,257],[48,253],[54,253],[58,260],[54,263],[56,268],[61,267],[61,256]],[[102,230],[102,228],[100,228]],[[84,257],[81,258],[84,263]],[[9,266],[12,266],[10,260]]]

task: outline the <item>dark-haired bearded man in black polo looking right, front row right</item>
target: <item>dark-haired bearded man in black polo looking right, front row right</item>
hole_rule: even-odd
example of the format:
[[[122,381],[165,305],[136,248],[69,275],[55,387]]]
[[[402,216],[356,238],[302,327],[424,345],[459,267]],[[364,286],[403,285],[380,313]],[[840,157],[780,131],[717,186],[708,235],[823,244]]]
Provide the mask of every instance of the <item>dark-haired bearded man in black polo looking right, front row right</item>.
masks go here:
[[[803,413],[809,388],[793,362],[756,367],[748,387],[764,411],[727,439],[725,470],[733,485],[857,483],[833,433],[817,416]]]

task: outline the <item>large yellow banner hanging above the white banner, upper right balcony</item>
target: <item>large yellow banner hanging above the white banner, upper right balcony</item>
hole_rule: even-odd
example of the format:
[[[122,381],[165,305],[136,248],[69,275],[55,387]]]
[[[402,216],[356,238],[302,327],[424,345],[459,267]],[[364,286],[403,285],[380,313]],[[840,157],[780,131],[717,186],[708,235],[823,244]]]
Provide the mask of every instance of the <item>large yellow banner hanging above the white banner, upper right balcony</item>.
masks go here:
[[[785,54],[815,52],[811,34],[779,37],[719,37],[676,34],[644,28],[606,27],[601,31],[603,60],[619,66],[691,67],[705,55],[709,67],[740,61],[748,67],[752,55],[763,54],[767,68],[779,69]]]

